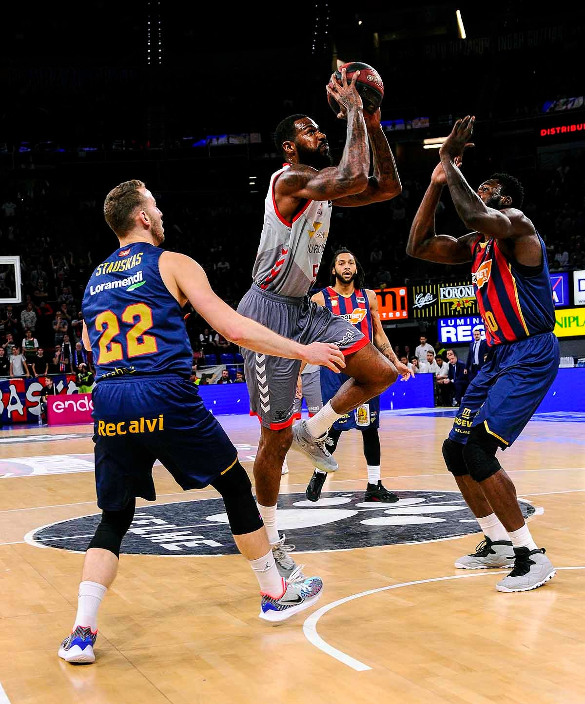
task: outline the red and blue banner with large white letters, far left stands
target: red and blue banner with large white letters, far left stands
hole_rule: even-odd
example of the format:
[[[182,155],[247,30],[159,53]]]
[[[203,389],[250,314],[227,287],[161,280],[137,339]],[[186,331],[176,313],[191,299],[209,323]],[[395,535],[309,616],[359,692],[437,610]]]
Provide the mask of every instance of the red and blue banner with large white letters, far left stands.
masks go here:
[[[51,378],[58,392],[57,398],[65,394],[77,394],[73,375],[63,374]],[[45,377],[0,381],[0,418],[4,424],[38,422],[44,381]]]

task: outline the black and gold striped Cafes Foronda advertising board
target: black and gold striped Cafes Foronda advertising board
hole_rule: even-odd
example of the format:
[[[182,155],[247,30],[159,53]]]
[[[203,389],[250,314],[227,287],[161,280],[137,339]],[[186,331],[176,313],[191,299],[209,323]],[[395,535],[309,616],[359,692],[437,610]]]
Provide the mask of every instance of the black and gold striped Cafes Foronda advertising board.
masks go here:
[[[414,318],[443,318],[447,315],[477,315],[472,283],[416,284],[410,287]]]

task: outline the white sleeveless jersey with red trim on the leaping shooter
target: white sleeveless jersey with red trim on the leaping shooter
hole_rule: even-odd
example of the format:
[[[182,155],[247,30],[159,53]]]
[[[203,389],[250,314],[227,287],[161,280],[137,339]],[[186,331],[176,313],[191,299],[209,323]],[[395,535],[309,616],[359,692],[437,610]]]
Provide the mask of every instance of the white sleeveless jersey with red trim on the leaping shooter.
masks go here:
[[[331,201],[307,201],[292,222],[278,212],[275,181],[291,164],[272,174],[264,205],[264,225],[252,271],[256,286],[280,296],[301,298],[315,280],[331,220]]]

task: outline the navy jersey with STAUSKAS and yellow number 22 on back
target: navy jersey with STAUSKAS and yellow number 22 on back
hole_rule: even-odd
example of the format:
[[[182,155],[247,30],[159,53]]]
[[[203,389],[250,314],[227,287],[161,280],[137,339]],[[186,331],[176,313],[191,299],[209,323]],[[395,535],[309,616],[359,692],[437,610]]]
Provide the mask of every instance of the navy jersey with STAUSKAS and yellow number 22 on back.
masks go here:
[[[82,310],[96,381],[125,374],[191,374],[193,352],[182,311],[158,271],[163,251],[134,242],[117,249],[89,279]]]

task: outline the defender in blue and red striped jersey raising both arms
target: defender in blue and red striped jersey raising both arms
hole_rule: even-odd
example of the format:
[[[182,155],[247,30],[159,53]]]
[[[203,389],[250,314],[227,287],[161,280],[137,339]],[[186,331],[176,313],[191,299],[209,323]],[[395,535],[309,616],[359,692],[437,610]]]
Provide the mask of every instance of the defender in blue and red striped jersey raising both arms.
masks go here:
[[[443,444],[447,469],[485,540],[455,567],[512,567],[498,591],[536,589],[556,571],[532,539],[516,489],[496,459],[520,435],[558,372],[558,340],[546,249],[520,208],[524,189],[494,174],[474,192],[459,167],[474,119],[455,122],[441,163],[415,215],[407,253],[437,263],[471,261],[472,282],[489,345],[488,358],[467,387]],[[448,185],[459,217],[474,232],[459,239],[435,234],[434,213]]]

